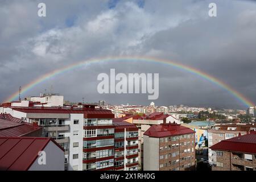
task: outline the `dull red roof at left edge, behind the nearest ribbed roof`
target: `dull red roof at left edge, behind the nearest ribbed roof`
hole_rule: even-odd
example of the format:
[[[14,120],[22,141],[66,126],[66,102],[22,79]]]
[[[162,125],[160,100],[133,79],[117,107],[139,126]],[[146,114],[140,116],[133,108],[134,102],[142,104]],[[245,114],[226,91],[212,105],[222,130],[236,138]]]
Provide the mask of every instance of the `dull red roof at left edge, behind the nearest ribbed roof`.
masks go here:
[[[41,127],[35,127],[26,122],[16,123],[0,119],[0,137],[22,137],[40,129]]]

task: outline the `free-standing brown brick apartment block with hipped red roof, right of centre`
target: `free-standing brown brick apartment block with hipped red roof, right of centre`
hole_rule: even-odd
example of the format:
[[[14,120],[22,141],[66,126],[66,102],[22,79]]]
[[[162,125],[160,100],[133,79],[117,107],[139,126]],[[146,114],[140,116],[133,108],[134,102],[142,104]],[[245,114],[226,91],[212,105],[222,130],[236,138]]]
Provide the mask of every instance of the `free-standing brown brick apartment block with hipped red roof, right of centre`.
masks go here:
[[[184,171],[193,166],[195,131],[176,123],[162,123],[144,133],[143,170]]]

